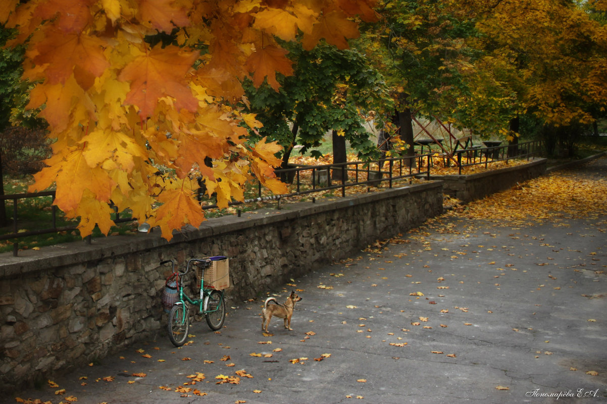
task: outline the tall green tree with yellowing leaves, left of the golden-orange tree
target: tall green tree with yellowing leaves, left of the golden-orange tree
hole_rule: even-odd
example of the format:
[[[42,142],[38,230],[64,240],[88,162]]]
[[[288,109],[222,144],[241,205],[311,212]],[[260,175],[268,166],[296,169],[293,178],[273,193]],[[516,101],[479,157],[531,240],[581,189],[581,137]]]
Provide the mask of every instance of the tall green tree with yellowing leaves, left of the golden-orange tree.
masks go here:
[[[465,39],[472,22],[451,1],[384,0],[379,24],[365,25],[362,46],[392,87],[393,120],[413,155],[415,114],[451,120],[469,89],[464,79],[475,53]]]

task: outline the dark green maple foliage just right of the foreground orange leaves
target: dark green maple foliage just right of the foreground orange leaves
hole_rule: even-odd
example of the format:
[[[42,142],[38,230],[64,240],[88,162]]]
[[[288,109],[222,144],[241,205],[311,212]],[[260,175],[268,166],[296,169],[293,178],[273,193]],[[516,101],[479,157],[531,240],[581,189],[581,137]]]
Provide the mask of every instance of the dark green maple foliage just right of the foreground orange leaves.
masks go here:
[[[356,50],[338,50],[319,44],[306,51],[285,44],[294,61],[293,76],[278,76],[276,92],[267,83],[255,89],[245,81],[251,112],[263,123],[260,136],[277,140],[286,163],[296,144],[300,152],[319,157],[315,148],[323,136],[337,130],[346,136],[361,157],[373,154],[374,146],[364,127],[371,110],[385,102],[382,77],[367,66]]]

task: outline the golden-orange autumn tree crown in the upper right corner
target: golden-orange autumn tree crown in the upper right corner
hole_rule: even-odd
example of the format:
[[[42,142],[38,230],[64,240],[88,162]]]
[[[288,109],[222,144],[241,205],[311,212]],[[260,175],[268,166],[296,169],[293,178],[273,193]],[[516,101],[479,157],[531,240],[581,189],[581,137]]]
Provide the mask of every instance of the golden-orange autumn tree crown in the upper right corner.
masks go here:
[[[607,100],[605,27],[573,1],[466,4],[478,30],[469,43],[483,52],[477,66],[497,84],[488,92],[510,93],[503,106],[510,103],[512,118],[532,114],[544,126],[549,152],[561,138],[571,154],[575,133]],[[563,140],[564,133],[572,139]]]

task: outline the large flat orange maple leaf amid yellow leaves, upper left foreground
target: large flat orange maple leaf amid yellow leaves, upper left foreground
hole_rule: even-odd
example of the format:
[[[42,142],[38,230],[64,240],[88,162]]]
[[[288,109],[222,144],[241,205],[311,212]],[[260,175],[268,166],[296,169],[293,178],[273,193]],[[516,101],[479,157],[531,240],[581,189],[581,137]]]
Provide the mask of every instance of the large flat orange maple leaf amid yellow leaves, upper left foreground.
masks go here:
[[[131,81],[131,91],[124,102],[137,106],[144,119],[154,113],[163,96],[175,98],[177,109],[195,112],[198,100],[189,90],[185,76],[197,58],[198,52],[186,52],[176,46],[157,46],[137,56],[118,75],[120,81]]]

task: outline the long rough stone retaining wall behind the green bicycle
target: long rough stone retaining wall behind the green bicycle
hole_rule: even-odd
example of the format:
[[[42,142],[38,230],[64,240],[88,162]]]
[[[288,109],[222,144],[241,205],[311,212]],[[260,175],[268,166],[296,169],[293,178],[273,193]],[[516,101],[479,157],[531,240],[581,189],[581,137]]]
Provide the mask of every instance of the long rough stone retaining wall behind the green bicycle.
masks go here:
[[[0,254],[0,390],[164,338],[161,260],[227,255],[228,296],[243,300],[440,214],[443,186],[282,205],[208,220],[170,243],[152,232]]]

